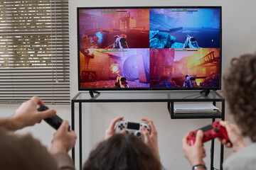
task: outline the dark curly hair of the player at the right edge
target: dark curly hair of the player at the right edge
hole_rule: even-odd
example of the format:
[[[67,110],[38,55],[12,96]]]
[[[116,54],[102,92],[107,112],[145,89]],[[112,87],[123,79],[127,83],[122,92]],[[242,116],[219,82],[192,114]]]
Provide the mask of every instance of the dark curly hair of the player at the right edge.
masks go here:
[[[256,142],[256,55],[231,60],[224,77],[225,98],[242,135]]]

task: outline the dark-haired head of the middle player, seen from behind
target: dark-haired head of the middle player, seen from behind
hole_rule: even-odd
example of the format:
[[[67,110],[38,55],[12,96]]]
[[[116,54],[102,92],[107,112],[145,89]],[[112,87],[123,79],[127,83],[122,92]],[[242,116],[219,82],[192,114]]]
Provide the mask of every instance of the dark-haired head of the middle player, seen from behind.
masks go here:
[[[133,135],[115,134],[90,152],[83,170],[160,170],[151,149]]]

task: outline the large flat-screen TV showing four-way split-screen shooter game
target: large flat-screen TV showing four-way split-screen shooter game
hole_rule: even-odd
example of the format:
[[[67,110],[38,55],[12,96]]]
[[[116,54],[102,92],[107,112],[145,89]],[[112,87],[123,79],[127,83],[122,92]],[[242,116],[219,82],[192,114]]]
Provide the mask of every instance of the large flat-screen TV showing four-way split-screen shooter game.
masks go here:
[[[221,6],[77,12],[79,90],[221,88]]]

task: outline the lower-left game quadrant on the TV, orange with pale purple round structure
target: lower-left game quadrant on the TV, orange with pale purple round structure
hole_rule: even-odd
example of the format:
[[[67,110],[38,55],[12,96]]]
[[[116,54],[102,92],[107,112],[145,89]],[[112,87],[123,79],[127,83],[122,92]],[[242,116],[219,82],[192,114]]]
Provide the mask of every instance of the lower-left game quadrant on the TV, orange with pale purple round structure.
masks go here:
[[[149,87],[149,48],[80,52],[81,88]]]

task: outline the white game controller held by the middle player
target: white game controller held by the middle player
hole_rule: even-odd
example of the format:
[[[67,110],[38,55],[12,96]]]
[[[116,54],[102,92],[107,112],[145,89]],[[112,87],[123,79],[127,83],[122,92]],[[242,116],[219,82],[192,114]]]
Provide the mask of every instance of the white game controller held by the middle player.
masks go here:
[[[144,141],[142,127],[146,128],[147,130],[150,130],[149,124],[146,122],[132,123],[132,122],[127,122],[125,120],[119,120],[116,123],[115,132],[119,133],[119,132],[121,132],[121,130],[125,130],[127,132],[127,134],[135,135]]]

